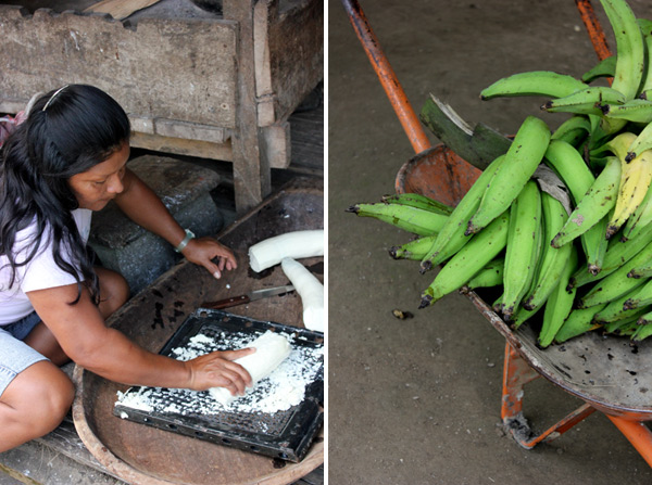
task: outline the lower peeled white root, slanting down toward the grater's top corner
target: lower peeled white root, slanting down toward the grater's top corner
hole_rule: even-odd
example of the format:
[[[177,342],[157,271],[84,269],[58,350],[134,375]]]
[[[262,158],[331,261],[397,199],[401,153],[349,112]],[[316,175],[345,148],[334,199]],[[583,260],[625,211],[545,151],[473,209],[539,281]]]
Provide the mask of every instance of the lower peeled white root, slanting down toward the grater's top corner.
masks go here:
[[[301,263],[283,258],[280,267],[301,296],[303,324],[306,329],[324,331],[324,285]]]

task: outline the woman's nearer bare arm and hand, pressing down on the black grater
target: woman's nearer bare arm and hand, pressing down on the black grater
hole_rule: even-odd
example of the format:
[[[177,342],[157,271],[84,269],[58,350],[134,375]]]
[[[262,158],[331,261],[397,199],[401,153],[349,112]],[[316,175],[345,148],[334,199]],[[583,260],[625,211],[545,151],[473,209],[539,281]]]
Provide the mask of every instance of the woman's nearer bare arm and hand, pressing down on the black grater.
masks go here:
[[[35,310],[57,337],[66,355],[79,366],[111,381],[129,385],[204,391],[226,387],[242,394],[251,385],[249,373],[236,358],[253,349],[215,352],[189,361],[147,352],[115,329],[104,326],[86,289],[80,301],[77,285],[68,284],[27,293]]]

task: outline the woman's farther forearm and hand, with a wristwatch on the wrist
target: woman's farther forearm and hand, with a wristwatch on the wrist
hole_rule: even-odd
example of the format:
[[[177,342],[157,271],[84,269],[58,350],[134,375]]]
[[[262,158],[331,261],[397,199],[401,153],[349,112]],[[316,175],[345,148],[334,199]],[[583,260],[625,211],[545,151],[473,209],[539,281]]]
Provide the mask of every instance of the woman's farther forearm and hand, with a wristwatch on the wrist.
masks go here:
[[[186,231],[172,217],[159,196],[131,170],[123,178],[124,190],[115,197],[117,206],[136,224],[160,235],[174,247],[186,238]],[[181,253],[189,261],[206,268],[215,278],[238,265],[233,252],[211,238],[192,239]],[[218,258],[217,264],[212,259]]]

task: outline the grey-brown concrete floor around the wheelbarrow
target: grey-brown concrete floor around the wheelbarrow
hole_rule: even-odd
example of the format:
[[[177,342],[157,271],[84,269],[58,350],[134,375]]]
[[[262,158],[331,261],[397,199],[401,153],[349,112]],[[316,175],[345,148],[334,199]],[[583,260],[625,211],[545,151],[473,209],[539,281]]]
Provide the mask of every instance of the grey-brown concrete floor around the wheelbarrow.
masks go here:
[[[563,115],[531,98],[481,102],[484,87],[524,71],[579,76],[597,62],[572,0],[361,3],[415,111],[432,92],[504,133],[528,114],[551,128]],[[629,3],[652,18],[649,1]],[[417,310],[431,276],[387,254],[411,235],[344,212],[393,192],[414,151],[341,3],[328,7],[329,483],[651,483],[652,470],[600,413],[532,450],[505,435],[504,339],[459,294]],[[394,308],[414,318],[398,320]],[[540,379],[526,388],[525,414],[543,429],[579,404]]]

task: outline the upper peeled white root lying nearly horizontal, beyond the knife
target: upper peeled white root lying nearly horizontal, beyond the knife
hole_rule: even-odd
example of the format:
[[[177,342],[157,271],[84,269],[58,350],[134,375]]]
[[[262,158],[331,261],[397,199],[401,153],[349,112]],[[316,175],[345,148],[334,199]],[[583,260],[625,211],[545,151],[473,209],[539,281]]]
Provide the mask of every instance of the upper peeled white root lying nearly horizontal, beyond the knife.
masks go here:
[[[324,229],[286,232],[249,248],[249,264],[255,272],[278,265],[284,257],[313,256],[324,256]]]

